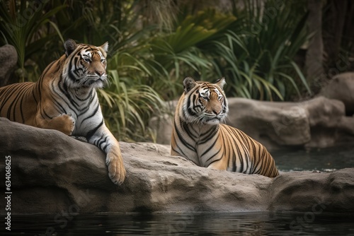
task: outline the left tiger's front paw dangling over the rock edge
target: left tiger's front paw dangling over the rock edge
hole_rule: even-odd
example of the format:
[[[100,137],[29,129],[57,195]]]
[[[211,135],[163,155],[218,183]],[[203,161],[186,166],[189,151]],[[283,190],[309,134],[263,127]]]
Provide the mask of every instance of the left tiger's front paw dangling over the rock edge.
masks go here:
[[[107,154],[105,164],[108,167],[108,176],[115,184],[122,184],[125,179],[125,167],[121,155]]]

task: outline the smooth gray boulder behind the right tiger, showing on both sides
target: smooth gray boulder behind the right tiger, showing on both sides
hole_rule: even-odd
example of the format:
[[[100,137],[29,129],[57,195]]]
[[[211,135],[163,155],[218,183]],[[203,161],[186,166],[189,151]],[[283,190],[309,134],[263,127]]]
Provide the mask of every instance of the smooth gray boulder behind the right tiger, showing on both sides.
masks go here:
[[[241,129],[269,150],[326,148],[354,141],[354,117],[346,117],[344,104],[339,100],[320,96],[304,102],[246,98],[229,98],[228,101],[226,123]],[[156,130],[157,143],[170,143],[171,116],[154,117],[150,127]]]

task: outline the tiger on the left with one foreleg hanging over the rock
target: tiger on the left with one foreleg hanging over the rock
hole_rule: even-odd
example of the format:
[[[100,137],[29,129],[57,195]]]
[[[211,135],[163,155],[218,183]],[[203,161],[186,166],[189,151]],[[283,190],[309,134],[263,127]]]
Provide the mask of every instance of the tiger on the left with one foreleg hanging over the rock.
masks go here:
[[[65,54],[53,61],[35,83],[0,88],[0,116],[64,134],[84,136],[107,156],[108,175],[115,184],[125,179],[120,146],[105,126],[96,88],[107,81],[108,42],[96,47],[64,42]]]

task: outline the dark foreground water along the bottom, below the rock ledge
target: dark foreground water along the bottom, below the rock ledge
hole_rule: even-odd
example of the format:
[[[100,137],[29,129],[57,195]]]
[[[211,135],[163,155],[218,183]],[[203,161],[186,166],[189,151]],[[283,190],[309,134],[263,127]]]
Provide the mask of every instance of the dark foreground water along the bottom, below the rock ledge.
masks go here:
[[[4,229],[1,229],[4,230]],[[354,235],[354,215],[319,213],[169,213],[13,216],[1,235]]]

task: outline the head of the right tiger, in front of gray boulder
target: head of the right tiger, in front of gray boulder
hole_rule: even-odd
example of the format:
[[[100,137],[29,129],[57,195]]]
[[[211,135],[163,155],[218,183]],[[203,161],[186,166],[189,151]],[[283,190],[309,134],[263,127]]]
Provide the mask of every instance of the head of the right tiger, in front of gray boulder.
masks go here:
[[[229,112],[224,94],[225,78],[215,83],[194,81],[186,77],[183,81],[184,98],[181,119],[188,123],[219,124]]]

